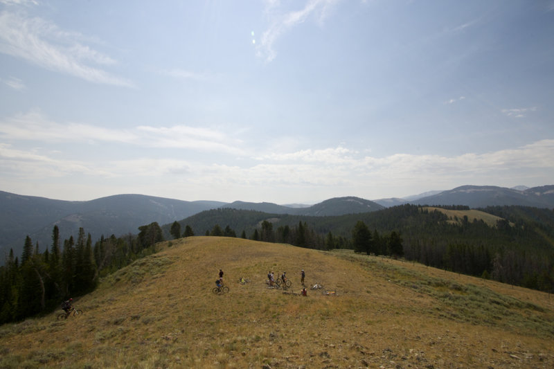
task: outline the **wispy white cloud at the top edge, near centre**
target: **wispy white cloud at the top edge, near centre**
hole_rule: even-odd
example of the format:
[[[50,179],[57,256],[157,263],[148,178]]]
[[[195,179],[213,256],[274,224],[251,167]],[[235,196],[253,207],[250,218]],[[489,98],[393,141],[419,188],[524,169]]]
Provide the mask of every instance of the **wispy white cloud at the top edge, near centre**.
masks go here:
[[[308,0],[301,10],[285,12],[283,15],[276,15],[280,3],[269,1],[266,12],[270,18],[270,26],[264,33],[258,46],[258,56],[264,57],[271,62],[276,57],[274,49],[275,42],[289,30],[305,22],[310,16],[317,15],[317,21],[323,24],[328,17],[329,11],[335,3],[340,0]]]

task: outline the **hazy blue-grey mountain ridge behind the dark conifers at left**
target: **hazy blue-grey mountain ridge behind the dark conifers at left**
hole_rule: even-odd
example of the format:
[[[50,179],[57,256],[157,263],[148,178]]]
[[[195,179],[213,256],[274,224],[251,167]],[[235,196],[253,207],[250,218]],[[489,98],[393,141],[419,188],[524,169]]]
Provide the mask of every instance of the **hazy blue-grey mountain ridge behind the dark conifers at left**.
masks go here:
[[[21,254],[29,235],[41,250],[51,245],[53,226],[60,237],[77,237],[79,228],[91,233],[93,240],[138,233],[139,226],[166,224],[206,209],[217,208],[220,201],[181,201],[145,195],[114,195],[91,201],[63,201],[16,195],[0,191],[0,264],[13,249]]]

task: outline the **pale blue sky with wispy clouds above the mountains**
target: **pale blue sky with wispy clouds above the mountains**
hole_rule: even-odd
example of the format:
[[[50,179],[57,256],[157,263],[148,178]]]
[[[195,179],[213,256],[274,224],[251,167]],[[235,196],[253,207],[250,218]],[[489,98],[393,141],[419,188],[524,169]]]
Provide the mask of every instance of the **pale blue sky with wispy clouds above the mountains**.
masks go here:
[[[554,184],[554,1],[0,0],[0,190]]]

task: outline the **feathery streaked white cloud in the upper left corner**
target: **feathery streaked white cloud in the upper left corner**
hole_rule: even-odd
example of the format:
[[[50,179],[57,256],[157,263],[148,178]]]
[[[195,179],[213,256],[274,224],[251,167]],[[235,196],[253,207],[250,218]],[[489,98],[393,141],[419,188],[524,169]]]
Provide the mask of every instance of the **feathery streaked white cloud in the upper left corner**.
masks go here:
[[[0,53],[89,82],[132,87],[128,80],[99,69],[97,64],[107,66],[116,62],[82,44],[84,39],[79,33],[66,32],[39,17],[0,13]]]

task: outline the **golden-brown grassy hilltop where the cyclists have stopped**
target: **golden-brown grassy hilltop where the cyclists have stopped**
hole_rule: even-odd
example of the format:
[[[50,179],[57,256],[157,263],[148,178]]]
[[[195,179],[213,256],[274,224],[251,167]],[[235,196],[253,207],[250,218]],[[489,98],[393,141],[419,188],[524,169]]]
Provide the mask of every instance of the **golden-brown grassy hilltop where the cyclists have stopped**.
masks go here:
[[[75,301],[83,316],[1,326],[0,368],[554,367],[554,296],[539,291],[238,238],[159,248]],[[231,291],[216,296],[220,268]],[[298,296],[301,269],[337,296]],[[292,288],[267,288],[269,270]]]

